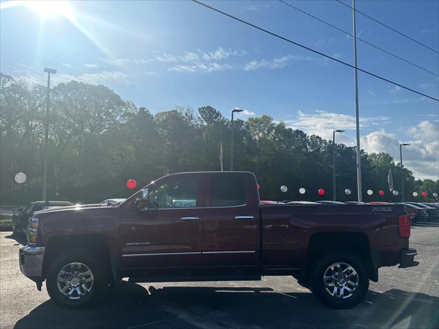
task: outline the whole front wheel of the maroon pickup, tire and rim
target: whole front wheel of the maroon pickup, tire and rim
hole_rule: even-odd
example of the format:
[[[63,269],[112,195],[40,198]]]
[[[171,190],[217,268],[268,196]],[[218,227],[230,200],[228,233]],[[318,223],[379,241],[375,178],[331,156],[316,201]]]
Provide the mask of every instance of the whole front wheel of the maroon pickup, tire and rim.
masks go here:
[[[54,302],[69,308],[89,304],[102,291],[102,267],[86,250],[65,252],[47,273],[47,292]]]

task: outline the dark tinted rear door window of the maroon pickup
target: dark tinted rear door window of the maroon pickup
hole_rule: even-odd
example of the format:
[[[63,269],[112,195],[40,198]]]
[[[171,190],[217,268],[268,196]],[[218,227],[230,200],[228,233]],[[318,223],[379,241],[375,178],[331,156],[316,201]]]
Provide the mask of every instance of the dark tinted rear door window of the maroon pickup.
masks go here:
[[[211,207],[242,206],[246,204],[244,180],[237,175],[218,175],[211,178]]]

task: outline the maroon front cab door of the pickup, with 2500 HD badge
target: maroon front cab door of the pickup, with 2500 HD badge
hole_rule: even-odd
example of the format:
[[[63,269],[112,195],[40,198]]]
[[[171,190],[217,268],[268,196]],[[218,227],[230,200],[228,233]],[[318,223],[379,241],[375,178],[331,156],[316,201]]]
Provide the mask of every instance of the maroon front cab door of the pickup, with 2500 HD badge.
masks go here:
[[[150,203],[133,202],[121,218],[121,266],[201,265],[202,180],[197,174],[169,175],[148,186]]]

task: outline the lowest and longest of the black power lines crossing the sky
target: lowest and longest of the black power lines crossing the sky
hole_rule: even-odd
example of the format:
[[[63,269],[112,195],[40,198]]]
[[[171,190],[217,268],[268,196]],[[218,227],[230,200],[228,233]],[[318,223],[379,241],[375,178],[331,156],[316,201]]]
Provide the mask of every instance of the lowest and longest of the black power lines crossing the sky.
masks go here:
[[[215,7],[212,7],[212,6],[210,6],[210,5],[206,5],[206,3],[202,3],[202,2],[199,1],[199,0],[191,0],[191,1],[193,1],[193,2],[195,2],[195,3],[198,3],[198,5],[202,5],[202,6],[206,7],[206,8],[209,8],[210,10],[213,10],[213,11],[215,11],[215,12],[218,12],[219,14],[222,14],[222,15],[224,15],[224,16],[228,16],[230,19],[234,19],[235,21],[238,21],[238,22],[243,23],[243,24],[245,24],[245,25],[251,26],[251,27],[253,27],[253,28],[255,28],[255,29],[259,29],[259,31],[265,32],[266,34],[270,34],[271,36],[275,36],[276,38],[279,38],[279,39],[284,40],[284,41],[286,41],[286,42],[292,43],[293,45],[296,45],[296,46],[301,47],[301,48],[303,48],[303,49],[307,49],[307,50],[309,50],[309,51],[312,51],[313,53],[317,53],[317,54],[320,55],[320,56],[323,56],[323,57],[325,57],[325,58],[329,58],[330,60],[334,60],[335,62],[339,62],[340,64],[343,64],[343,65],[346,65],[346,66],[351,67],[352,69],[355,69],[355,66],[353,66],[353,65],[351,65],[351,64],[349,64],[349,63],[347,63],[347,62],[343,62],[342,60],[337,60],[337,58],[331,57],[331,56],[327,55],[326,53],[321,53],[320,51],[317,51],[317,50],[315,50],[315,49],[309,48],[309,47],[307,47],[307,46],[305,46],[305,45],[302,45],[302,44],[300,44],[300,43],[298,43],[298,42],[295,42],[295,41],[293,41],[293,40],[290,40],[290,39],[288,39],[288,38],[285,38],[284,36],[280,36],[279,34],[276,34],[276,33],[274,33],[274,32],[270,32],[270,31],[268,31],[268,29],[263,29],[262,27],[259,27],[259,26],[257,26],[257,25],[254,25],[254,24],[252,24],[252,23],[249,23],[248,21],[244,21],[243,19],[239,19],[238,17],[233,16],[233,15],[231,15],[231,14],[228,14],[227,12],[223,12],[222,10],[219,10],[219,9],[217,9],[217,8],[215,8]],[[398,84],[398,83],[396,83],[396,82],[393,82],[392,80],[388,80],[388,79],[386,79],[385,77],[381,77],[381,76],[379,76],[379,75],[376,75],[375,73],[371,73],[371,72],[366,71],[366,70],[364,70],[364,69],[360,69],[359,67],[357,67],[357,70],[358,70],[358,71],[361,71],[361,72],[363,72],[363,73],[366,73],[366,74],[368,74],[368,75],[370,75],[370,76],[372,76],[372,77],[376,77],[376,78],[379,79],[379,80],[383,80],[383,81],[388,82],[388,83],[390,83],[390,84],[394,84],[395,86],[399,86],[399,87],[401,87],[401,88],[403,88],[403,89],[410,90],[410,91],[412,91],[413,93],[416,93],[416,94],[418,94],[418,95],[421,95],[421,96],[427,97],[427,98],[429,98],[429,99],[433,99],[434,101],[439,101],[439,99],[437,99],[437,98],[434,98],[434,97],[429,96],[429,95],[425,95],[424,93],[421,93],[421,92],[418,91],[418,90],[414,90],[414,89],[412,89],[412,88],[409,88],[409,87],[403,86],[402,84]]]

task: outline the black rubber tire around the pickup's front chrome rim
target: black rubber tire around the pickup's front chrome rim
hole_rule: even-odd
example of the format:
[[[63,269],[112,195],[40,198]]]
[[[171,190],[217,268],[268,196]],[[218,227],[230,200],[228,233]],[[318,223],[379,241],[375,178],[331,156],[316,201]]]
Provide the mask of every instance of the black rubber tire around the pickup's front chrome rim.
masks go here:
[[[49,293],[51,300],[60,306],[68,308],[83,308],[91,304],[91,302],[99,296],[99,293],[102,293],[106,284],[106,280],[104,280],[103,275],[103,267],[99,264],[98,259],[99,258],[96,256],[88,254],[88,252],[84,249],[70,250],[69,252],[64,252],[62,255],[56,258],[49,268],[46,278],[47,292]],[[60,273],[61,269],[69,266],[71,263],[80,263],[85,265],[85,267],[80,267],[80,271],[86,271],[86,267],[88,267],[93,275],[93,284],[91,287],[89,287],[90,291],[84,293],[82,296],[79,296],[78,291],[75,289],[73,289],[75,291],[73,291],[72,295],[70,296],[64,295],[60,289],[58,289],[58,273]],[[67,267],[67,269],[69,269],[69,267]],[[71,269],[71,273],[73,273],[73,271],[74,269]],[[91,276],[88,276],[88,278],[91,278]],[[64,282],[60,282],[60,284],[64,284]],[[77,284],[74,287],[78,287],[80,291],[83,291],[81,288],[82,284]],[[68,288],[67,290],[70,289]]]

